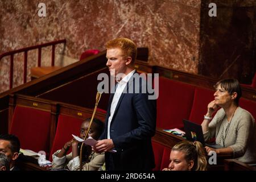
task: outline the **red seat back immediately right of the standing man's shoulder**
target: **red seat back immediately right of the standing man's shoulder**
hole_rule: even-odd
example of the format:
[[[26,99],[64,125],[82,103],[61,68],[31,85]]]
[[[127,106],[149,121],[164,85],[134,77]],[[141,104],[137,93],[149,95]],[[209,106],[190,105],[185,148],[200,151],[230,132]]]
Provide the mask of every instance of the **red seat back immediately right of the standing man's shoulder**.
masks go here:
[[[156,127],[183,127],[182,119],[189,118],[194,91],[195,86],[159,77]]]

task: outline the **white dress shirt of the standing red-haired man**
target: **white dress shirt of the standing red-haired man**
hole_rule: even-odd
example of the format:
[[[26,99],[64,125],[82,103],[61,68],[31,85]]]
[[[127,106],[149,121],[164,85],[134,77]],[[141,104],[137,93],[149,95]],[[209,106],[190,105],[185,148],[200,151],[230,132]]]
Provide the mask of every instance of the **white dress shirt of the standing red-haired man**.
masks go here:
[[[108,139],[110,139],[110,124],[114,115],[115,108],[117,107],[117,103],[119,101],[119,98],[122,95],[123,89],[125,89],[125,86],[127,85],[127,82],[130,80],[131,76],[133,76],[133,73],[135,72],[135,69],[128,73],[124,78],[122,78],[121,81],[117,84],[117,89],[115,90],[113,100],[111,102],[110,106],[110,116],[109,116],[109,122],[108,122]]]

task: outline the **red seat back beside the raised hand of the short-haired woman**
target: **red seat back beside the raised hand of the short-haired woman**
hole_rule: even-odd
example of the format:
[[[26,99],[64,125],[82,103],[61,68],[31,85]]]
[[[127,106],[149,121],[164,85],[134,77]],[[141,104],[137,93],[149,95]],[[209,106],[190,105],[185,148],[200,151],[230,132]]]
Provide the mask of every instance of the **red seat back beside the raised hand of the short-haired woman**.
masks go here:
[[[214,91],[204,88],[196,88],[192,110],[189,120],[201,124],[204,120],[204,114],[207,113],[207,106],[210,101],[214,100]]]

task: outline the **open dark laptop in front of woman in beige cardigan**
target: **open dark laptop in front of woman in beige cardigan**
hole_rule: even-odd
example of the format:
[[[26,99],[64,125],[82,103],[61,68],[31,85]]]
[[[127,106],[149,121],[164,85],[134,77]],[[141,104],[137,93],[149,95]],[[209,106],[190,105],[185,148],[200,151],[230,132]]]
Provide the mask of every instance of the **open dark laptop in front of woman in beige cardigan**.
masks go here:
[[[183,119],[183,123],[185,136],[187,140],[192,142],[199,141],[203,144],[203,146],[208,146],[212,148],[224,148],[223,146],[220,146],[219,144],[216,143],[205,143],[203,129],[201,125],[188,121],[187,119]]]

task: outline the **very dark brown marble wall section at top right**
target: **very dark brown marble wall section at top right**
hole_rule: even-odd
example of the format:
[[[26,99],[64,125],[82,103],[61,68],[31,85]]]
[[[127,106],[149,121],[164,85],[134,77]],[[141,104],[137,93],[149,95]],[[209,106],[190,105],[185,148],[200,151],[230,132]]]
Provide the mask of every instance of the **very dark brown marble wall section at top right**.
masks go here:
[[[217,16],[208,16],[208,4]],[[251,84],[256,71],[256,1],[206,0],[201,3],[199,74],[237,78]]]

